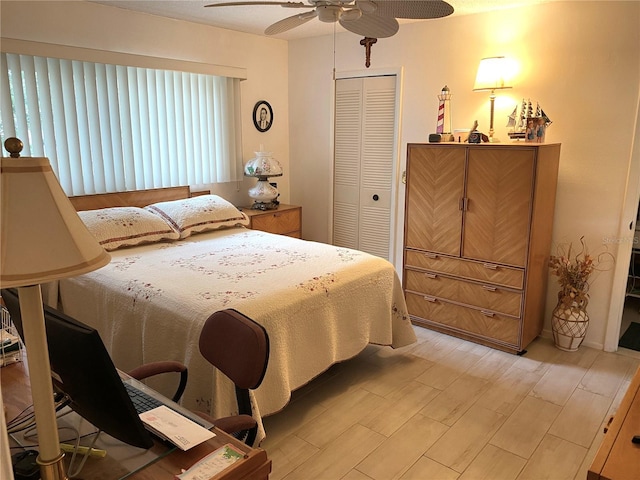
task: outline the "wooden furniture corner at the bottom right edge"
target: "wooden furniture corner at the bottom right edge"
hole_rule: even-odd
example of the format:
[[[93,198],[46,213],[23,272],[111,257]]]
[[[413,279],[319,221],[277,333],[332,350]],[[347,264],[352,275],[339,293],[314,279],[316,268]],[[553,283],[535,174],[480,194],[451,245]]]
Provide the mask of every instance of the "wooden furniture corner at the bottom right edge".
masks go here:
[[[640,435],[640,368],[613,416],[587,480],[638,480],[640,445],[631,443],[634,435]]]

